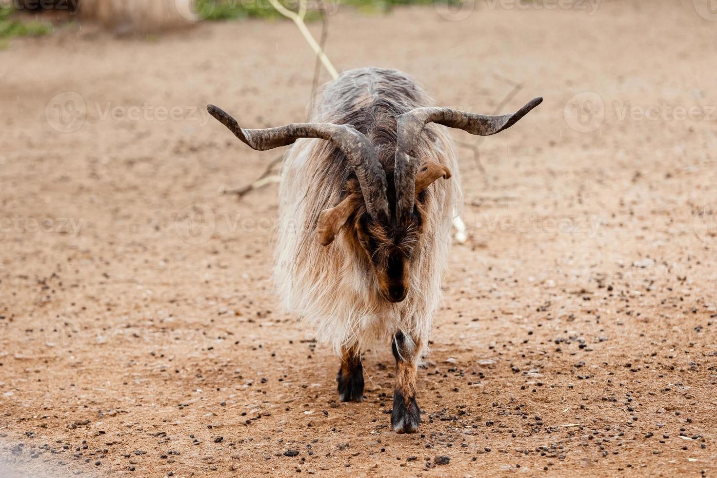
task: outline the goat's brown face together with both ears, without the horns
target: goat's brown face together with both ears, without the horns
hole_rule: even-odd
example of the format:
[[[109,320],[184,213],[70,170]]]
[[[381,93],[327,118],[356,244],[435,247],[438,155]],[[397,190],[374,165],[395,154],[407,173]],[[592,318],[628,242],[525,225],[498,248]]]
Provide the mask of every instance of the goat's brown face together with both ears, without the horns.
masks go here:
[[[415,194],[419,194],[438,178],[450,178],[450,171],[435,161],[425,159],[416,176]],[[353,216],[351,237],[369,259],[381,296],[389,302],[401,302],[410,286],[414,252],[419,246],[423,224],[422,206],[416,202],[414,211],[399,221],[376,219],[366,212],[358,183],[347,185],[351,191],[337,206],[321,211],[316,225],[318,240],[331,244],[339,229]]]

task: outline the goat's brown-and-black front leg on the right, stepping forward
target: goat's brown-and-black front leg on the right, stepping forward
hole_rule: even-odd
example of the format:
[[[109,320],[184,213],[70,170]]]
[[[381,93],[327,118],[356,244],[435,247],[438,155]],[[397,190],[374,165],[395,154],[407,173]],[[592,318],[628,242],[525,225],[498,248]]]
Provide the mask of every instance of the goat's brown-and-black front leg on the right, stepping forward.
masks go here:
[[[396,389],[391,426],[397,433],[416,433],[421,410],[416,403],[416,373],[421,344],[402,332],[394,335],[391,350],[396,358]]]

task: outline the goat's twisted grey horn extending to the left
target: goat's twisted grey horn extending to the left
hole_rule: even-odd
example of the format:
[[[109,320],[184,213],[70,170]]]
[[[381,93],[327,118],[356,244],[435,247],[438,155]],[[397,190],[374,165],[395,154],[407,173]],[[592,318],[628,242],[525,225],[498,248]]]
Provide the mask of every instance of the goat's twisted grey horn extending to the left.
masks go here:
[[[206,110],[229,128],[242,142],[255,150],[268,150],[292,144],[298,138],[320,138],[330,141],[346,155],[359,179],[364,195],[366,211],[376,218],[389,217],[389,201],[386,199],[386,172],[376,156],[374,145],[352,125],[333,123],[291,123],[277,128],[247,130],[241,128],[222,108],[208,105]]]

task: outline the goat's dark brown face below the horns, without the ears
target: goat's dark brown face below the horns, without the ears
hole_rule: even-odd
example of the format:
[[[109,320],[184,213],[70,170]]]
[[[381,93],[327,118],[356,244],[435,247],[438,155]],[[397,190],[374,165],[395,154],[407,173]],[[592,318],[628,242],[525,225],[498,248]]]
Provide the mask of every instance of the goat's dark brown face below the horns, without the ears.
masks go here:
[[[420,214],[399,226],[381,224],[364,214],[356,220],[354,233],[371,263],[381,296],[389,302],[406,298],[414,249],[419,242]]]

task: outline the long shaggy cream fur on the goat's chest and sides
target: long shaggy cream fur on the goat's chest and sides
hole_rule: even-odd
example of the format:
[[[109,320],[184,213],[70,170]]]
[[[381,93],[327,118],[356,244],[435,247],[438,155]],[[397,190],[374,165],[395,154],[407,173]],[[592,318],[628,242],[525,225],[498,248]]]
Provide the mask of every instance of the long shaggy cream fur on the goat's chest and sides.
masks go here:
[[[315,217],[338,204],[341,184],[311,188],[315,172],[331,157],[321,140],[298,140],[289,150],[280,183],[279,230],[274,278],[283,305],[313,324],[318,340],[338,354],[357,345],[364,351],[377,343],[389,345],[402,331],[425,348],[432,319],[442,300],[442,275],[447,266],[451,224],[460,214],[462,195],[457,159],[447,128],[429,125],[435,142],[431,157],[452,171],[439,179],[425,204],[424,229],[410,267],[410,286],[403,302],[386,302],[380,295],[364,254],[356,254],[345,226],[336,240],[323,247],[315,237]]]

